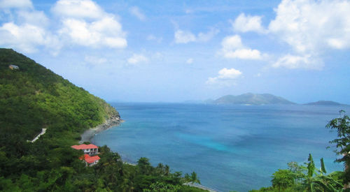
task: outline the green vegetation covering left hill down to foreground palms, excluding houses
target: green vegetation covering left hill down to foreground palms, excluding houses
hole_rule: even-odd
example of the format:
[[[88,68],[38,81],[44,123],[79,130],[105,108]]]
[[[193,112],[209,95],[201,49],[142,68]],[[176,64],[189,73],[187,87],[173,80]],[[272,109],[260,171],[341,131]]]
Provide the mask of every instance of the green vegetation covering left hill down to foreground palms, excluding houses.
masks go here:
[[[70,146],[110,117],[119,114],[101,98],[18,52],[0,49],[0,191],[201,191],[182,186],[191,178],[167,165],[154,168],[148,158],[127,165],[106,146],[99,163],[85,167],[82,152]],[[46,133],[28,142],[41,128]]]

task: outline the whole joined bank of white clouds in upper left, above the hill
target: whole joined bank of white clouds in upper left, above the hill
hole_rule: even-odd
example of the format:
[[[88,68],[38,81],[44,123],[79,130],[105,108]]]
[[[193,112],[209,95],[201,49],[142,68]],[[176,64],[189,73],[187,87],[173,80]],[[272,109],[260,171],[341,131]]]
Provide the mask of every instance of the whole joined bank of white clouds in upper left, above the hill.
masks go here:
[[[50,31],[50,20],[43,11],[35,10],[31,1],[0,0],[0,8],[11,17],[0,26],[0,45],[21,52],[36,52],[45,47],[58,54],[64,45],[123,48],[127,46],[126,33],[118,17],[106,13],[91,0],[59,0],[52,7],[60,25]]]

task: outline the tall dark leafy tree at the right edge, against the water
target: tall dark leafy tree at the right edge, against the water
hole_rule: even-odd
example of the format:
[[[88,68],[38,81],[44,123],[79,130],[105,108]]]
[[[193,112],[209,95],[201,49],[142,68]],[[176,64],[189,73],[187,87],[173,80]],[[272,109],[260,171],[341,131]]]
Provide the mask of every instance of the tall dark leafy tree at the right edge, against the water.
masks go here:
[[[337,131],[337,138],[331,140],[330,144],[335,144],[337,150],[335,150],[337,155],[342,155],[342,158],[337,158],[335,160],[339,163],[344,163],[344,184],[350,182],[350,118],[345,115],[344,110],[339,111],[340,117],[332,119],[326,125],[327,128],[330,128],[331,131],[334,129]]]

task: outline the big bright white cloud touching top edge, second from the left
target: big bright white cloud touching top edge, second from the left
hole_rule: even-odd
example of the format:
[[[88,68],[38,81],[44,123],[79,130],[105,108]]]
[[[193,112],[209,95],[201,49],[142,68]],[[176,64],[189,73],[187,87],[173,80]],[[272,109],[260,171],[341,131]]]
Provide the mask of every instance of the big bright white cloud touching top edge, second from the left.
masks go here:
[[[104,12],[90,0],[59,0],[52,8],[61,18],[58,34],[66,43],[89,47],[127,47],[125,32],[118,18]]]

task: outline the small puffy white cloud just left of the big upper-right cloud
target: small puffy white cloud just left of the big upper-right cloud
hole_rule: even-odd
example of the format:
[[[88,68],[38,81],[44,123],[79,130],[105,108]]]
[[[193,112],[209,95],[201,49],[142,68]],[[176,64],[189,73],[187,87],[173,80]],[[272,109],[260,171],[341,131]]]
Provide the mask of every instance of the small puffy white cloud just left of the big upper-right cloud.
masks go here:
[[[239,32],[265,32],[265,29],[261,26],[261,16],[244,15],[244,13],[241,13],[235,22],[232,22],[232,27],[235,31]]]

